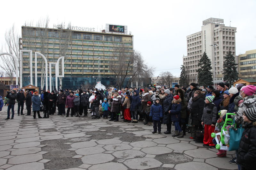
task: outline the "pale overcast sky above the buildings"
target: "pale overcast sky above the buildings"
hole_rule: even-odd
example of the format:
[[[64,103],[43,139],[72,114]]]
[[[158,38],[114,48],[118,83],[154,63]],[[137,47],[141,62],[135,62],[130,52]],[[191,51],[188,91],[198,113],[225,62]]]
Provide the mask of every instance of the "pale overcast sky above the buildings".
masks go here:
[[[140,51],[153,76],[169,70],[180,76],[182,56],[187,55],[186,36],[201,31],[202,21],[224,19],[237,27],[236,55],[256,49],[255,0],[183,1],[1,1],[0,47],[4,33],[15,24],[21,32],[25,22],[50,18],[49,27],[61,22],[72,26],[94,27],[126,25],[134,35],[134,49]],[[178,69],[177,69],[178,68]]]

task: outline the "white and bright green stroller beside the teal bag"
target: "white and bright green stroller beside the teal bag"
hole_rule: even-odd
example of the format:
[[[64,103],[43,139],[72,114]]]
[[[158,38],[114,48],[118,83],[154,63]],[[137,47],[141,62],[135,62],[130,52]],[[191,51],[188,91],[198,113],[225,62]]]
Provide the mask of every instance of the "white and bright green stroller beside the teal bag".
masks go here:
[[[225,123],[223,124],[219,133],[212,133],[211,136],[216,140],[216,149],[228,151],[229,146],[229,133],[227,130],[227,126],[231,126],[233,124],[233,119],[228,118],[228,115],[236,115],[234,113],[227,113]],[[236,124],[235,124],[236,126]],[[217,136],[220,136],[220,142]],[[224,144],[224,146],[223,146]]]

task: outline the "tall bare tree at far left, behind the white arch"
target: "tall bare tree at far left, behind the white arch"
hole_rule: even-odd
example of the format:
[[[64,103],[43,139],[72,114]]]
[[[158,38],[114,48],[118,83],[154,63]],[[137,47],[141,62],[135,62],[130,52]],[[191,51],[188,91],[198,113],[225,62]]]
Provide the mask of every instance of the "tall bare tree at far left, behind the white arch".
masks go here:
[[[16,59],[9,55],[3,55],[0,59],[0,68],[2,68],[7,77],[10,77],[13,84],[13,77],[19,76],[20,63],[18,62],[18,72],[16,72],[16,60],[20,61],[20,35],[15,29],[15,25],[5,32],[5,46],[2,47],[1,52],[12,54]],[[18,85],[19,82],[16,82]]]

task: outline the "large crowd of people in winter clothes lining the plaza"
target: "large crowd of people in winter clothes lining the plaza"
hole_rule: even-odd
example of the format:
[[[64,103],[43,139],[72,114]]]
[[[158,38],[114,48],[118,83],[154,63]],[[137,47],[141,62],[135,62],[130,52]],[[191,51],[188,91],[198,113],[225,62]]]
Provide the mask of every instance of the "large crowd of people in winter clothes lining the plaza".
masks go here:
[[[237,84],[229,87],[229,84],[219,83],[217,89],[212,85],[198,88],[196,83],[189,87],[175,85],[174,88],[145,87],[143,89],[125,87],[120,90],[107,88],[106,90],[77,89],[76,91],[59,90],[59,92],[41,91],[26,92],[20,90],[8,92],[7,118],[14,117],[15,100],[18,102],[18,115],[23,114],[23,105],[26,102],[27,115],[31,114],[38,118],[40,111],[44,117],[54,115],[56,107],[58,115],[69,117],[88,116],[88,110],[92,113],[92,119],[109,119],[117,122],[138,123],[152,126],[152,133],[161,133],[161,124],[166,124],[167,130],[164,134],[171,134],[171,127],[174,126],[172,137],[182,138],[186,133],[196,143],[202,143],[204,147],[215,148],[216,141],[211,134],[220,131],[218,124],[226,119],[223,113],[235,113],[232,117],[237,125],[242,125],[245,130],[241,137],[240,148],[236,151],[236,158],[230,163],[239,164],[239,169],[250,169],[256,160],[256,86]],[[4,105],[4,103],[3,103]],[[0,105],[2,108],[3,106]],[[67,108],[67,110],[65,109]],[[119,119],[120,116],[120,119]],[[203,132],[198,135],[198,131]],[[226,151],[219,150],[218,157],[226,157]]]

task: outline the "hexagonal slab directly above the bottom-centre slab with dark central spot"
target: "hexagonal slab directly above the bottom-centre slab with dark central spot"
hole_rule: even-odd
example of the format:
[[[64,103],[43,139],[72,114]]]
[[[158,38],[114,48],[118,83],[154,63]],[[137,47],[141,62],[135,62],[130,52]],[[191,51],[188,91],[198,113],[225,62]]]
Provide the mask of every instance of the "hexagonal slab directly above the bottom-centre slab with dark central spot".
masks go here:
[[[125,151],[116,151],[112,153],[112,155],[120,159],[132,159],[132,158],[143,157],[146,154],[138,150],[125,150]]]

